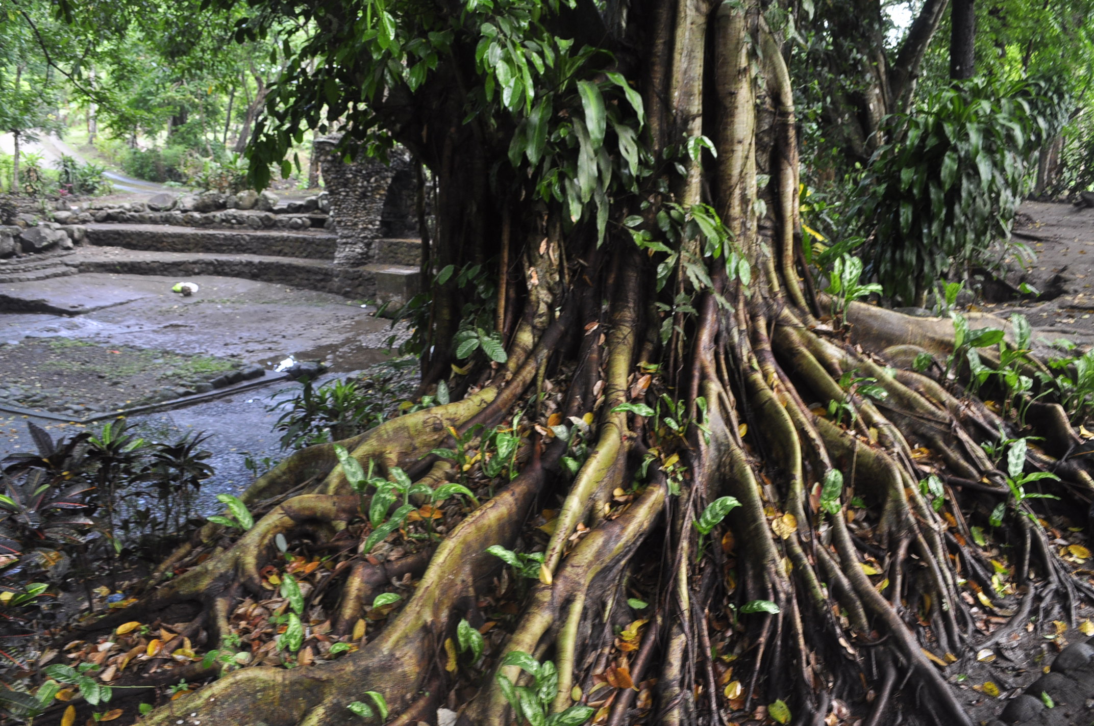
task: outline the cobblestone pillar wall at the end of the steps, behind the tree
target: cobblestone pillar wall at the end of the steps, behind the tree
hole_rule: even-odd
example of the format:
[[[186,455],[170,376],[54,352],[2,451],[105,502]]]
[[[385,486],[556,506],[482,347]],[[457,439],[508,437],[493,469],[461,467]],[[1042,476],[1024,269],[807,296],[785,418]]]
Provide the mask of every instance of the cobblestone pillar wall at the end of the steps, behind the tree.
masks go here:
[[[335,153],[338,140],[331,136],[315,142],[338,235],[335,264],[370,265],[376,259],[377,239],[418,234],[410,216],[414,166],[410,154],[401,148],[388,154],[389,164],[363,154],[347,163]]]

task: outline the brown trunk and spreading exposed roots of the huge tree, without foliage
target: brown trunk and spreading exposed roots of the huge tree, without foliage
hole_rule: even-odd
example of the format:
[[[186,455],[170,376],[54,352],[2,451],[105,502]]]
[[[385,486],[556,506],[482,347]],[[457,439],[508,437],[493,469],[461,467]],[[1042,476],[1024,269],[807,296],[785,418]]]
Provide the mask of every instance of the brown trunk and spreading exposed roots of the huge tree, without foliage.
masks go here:
[[[952,352],[948,320],[852,303],[849,327],[833,328],[833,301],[801,289],[808,271],[796,237],[793,94],[777,37],[755,3],[672,8],[660,15],[668,35],[659,35],[648,69],[653,156],[714,125],[722,153],[709,175],[699,159],[680,156],[671,183],[643,192],[651,204],[636,216],[654,229],[663,202],[712,200],[735,254],[752,265],[749,283],[705,256],[699,237],[684,239],[662,282],[686,305],[660,311],[649,291],[663,258],[613,234],[597,247],[590,230],[569,226],[569,210],[529,206],[527,219],[507,211],[504,259],[513,241],[528,242],[523,288],[507,278],[500,293],[497,327],[512,328],[505,363],[458,368],[451,390],[459,400],[341,442],[381,476],[398,467],[429,489],[477,484],[478,506],[453,506],[443,531],[404,523],[388,534],[388,552],[399,555],[379,559],[361,547],[374,531],[364,516],[371,500],[352,491],[334,446],[292,455],[243,496],[260,515],[249,531],[203,527],[138,602],[85,630],[197,604],[186,632],[224,644],[241,601],[270,597],[264,572],[283,559],[280,536],[290,557],[322,547],[347,555],[309,592],[307,607],[323,606],[326,621],[305,622],[304,637],[354,633],[358,649],[292,669],[225,672],[143,723],[248,724],[260,714],[268,726],[351,724],[360,718],[349,704],[374,691],[393,723],[432,723],[447,704],[461,724],[520,724],[498,678],[529,682],[499,665],[520,652],[558,667],[540,698],[546,709],[590,704],[596,724],[722,724],[776,700],[799,724],[825,723],[837,701],[881,724],[915,698],[939,723],[970,725],[940,664],[1001,642],[1034,614],[1073,620],[1080,599],[1094,596],[1050,543],[1043,522],[1056,516],[1051,505],[1015,501],[981,447],[1000,432],[1049,436],[1025,467],[1055,472],[1061,481],[1041,480],[1045,491],[1085,513],[1094,479],[1084,459],[1069,458],[1079,440],[1062,409],[1034,403],[1020,432],[966,396],[959,376],[911,370],[921,352]],[[770,184],[758,188],[760,178]],[[769,213],[757,215],[761,208]],[[684,271],[685,253],[709,267],[710,284]],[[435,311],[435,330],[451,336],[455,315]],[[987,316],[970,324],[1006,327]],[[440,348],[430,355],[447,355]],[[429,361],[431,376],[446,371],[439,360]],[[853,378],[874,379],[874,395]],[[511,481],[491,479],[484,465],[498,454],[478,424],[508,431],[517,411],[521,466]],[[432,453],[457,437],[464,459]],[[842,483],[833,489],[836,472]],[[738,506],[700,537],[697,523],[723,496]],[[424,496],[414,504],[433,522]],[[1000,504],[1005,516],[989,525]],[[546,536],[527,526],[540,515]],[[1013,546],[1010,593],[997,577],[1006,567],[976,544],[985,531],[1000,551]],[[515,571],[486,552],[494,544],[542,553],[538,578],[516,574],[514,585]],[[414,581],[414,594],[397,614],[370,620],[362,637],[393,578],[407,593]],[[982,617],[989,596],[1015,607],[993,632]],[[458,649],[463,620],[465,637],[468,627],[488,633],[481,655]]]

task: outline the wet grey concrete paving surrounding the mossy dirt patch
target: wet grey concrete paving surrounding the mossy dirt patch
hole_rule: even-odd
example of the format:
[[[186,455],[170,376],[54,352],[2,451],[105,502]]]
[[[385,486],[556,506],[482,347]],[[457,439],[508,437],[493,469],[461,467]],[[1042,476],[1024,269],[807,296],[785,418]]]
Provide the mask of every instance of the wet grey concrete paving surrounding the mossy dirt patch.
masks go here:
[[[288,355],[321,360],[329,372],[319,382],[346,376],[387,356],[385,341],[393,330],[373,308],[338,295],[253,280],[194,277],[199,290],[190,297],[171,292],[179,280],[154,276],[91,273],[33,283],[27,294],[49,294],[60,304],[82,304],[91,312],[62,316],[0,314],[0,341],[65,337],[97,343],[202,353],[272,367]],[[22,284],[22,283],[19,283]],[[4,285],[7,294],[16,285]],[[109,298],[108,306],[96,301]],[[95,309],[97,308],[97,309]],[[0,372],[2,376],[2,372]],[[288,384],[299,388],[300,384]],[[283,457],[272,431],[280,412],[268,407],[287,384],[245,390],[225,398],[166,411],[133,415],[140,435],[177,438],[188,431],[211,434],[205,448],[216,475],[202,487],[198,508],[220,508],[216,494],[238,492],[252,481],[247,456],[261,464]],[[31,420],[34,420],[33,417]],[[0,413],[0,457],[33,450],[26,417]],[[70,435],[80,424],[35,421],[50,435]],[[91,423],[92,431],[102,423]]]

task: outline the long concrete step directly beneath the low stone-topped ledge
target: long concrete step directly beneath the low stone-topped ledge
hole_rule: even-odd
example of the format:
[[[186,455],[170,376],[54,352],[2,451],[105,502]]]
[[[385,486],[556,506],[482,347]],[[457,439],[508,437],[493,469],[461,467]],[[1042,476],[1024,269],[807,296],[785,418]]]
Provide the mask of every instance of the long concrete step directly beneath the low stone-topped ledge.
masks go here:
[[[280,230],[213,230],[158,224],[86,224],[88,242],[165,253],[261,255],[304,259],[333,259],[337,237],[328,232]]]

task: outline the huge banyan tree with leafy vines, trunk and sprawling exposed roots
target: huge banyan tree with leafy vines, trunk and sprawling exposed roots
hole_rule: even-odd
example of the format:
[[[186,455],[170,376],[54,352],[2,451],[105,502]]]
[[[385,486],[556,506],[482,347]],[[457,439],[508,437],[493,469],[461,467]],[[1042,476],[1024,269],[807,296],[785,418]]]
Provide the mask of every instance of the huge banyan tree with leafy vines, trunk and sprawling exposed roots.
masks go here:
[[[1064,460],[1062,410],[1028,407],[1048,440],[1000,462],[980,444],[1017,429],[964,395],[962,352],[1002,333],[854,302],[853,262],[825,293],[806,264],[796,8],[252,5],[241,38],[295,48],[252,143],[259,182],[336,120],[347,154],[397,142],[428,169],[409,343],[428,406],[293,454],[243,496],[249,529],[195,532],[90,627],[189,612],[187,633],[235,653],[241,601],[271,596],[286,554],[337,553],[306,592],[282,586],[298,667],[207,659],[190,677],[221,677],[147,723],[434,723],[457,705],[462,724],[757,706],[814,724],[838,699],[870,724],[901,703],[970,724],[938,664],[1046,605],[1073,616],[1089,586],[1024,496],[1037,479],[1094,492]],[[1036,368],[1015,332],[979,365]],[[991,633],[986,537],[1016,588]],[[293,660],[309,644],[329,655]]]

